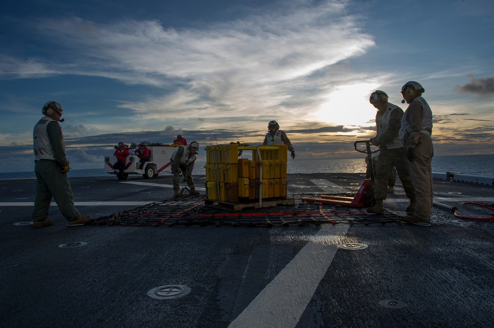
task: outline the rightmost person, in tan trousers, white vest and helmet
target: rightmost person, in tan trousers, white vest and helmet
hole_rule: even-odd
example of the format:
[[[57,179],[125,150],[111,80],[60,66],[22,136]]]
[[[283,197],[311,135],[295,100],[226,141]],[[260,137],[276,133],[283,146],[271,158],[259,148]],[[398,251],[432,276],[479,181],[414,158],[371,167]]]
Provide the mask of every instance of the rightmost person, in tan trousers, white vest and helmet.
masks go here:
[[[418,82],[410,81],[402,87],[402,96],[408,108],[401,120],[400,139],[408,151],[413,186],[417,194],[417,205],[412,214],[403,217],[407,223],[430,225],[432,210],[432,110],[422,98],[425,89]]]

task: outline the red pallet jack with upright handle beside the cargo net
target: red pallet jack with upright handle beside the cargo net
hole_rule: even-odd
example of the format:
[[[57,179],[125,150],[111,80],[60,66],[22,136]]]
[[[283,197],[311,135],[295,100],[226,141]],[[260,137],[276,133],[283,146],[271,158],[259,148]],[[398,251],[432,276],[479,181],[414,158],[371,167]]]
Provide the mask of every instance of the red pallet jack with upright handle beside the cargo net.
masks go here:
[[[365,143],[366,150],[360,150],[357,148],[357,144]],[[374,176],[374,164],[372,163],[372,153],[378,151],[378,149],[371,149],[371,141],[355,141],[355,150],[367,154],[368,165],[370,168],[370,177],[366,177],[364,183],[359,188],[359,191],[354,197],[345,196],[331,196],[331,195],[321,195],[319,198],[301,198],[302,201],[310,203],[323,203],[332,205],[343,205],[348,207],[362,207],[362,206],[372,206],[374,204],[374,187],[375,187],[375,176]]]

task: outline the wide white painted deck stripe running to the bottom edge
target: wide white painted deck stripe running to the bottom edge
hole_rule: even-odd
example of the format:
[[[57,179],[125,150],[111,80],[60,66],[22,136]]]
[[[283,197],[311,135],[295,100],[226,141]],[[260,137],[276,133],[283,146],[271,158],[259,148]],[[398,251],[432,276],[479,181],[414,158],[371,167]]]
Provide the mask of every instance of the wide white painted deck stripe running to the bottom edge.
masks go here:
[[[349,225],[323,225],[230,326],[295,327],[314,295]]]

